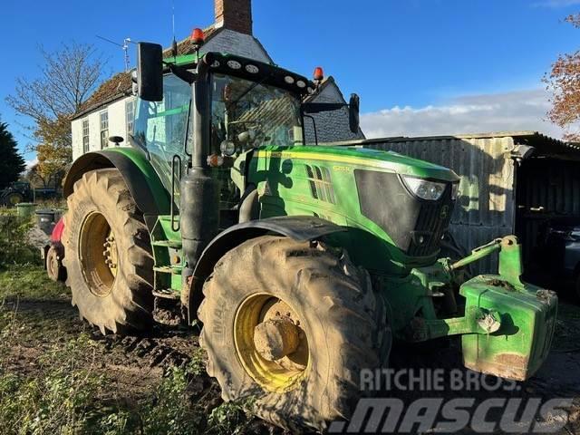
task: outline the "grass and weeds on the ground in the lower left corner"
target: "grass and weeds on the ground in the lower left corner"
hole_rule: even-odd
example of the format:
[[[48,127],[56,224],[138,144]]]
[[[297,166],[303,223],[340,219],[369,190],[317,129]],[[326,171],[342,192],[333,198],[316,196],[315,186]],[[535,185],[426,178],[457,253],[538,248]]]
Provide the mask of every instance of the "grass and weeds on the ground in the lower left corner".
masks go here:
[[[205,353],[151,377],[139,395],[120,388],[111,353],[71,306],[70,290],[51,281],[37,248],[27,245],[33,220],[0,208],[0,432],[16,434],[236,434],[248,419],[242,404],[219,404]],[[122,360],[128,362],[127,357]],[[145,371],[142,376],[148,376]],[[201,394],[201,395],[200,395]],[[217,401],[218,400],[218,401]],[[209,406],[211,402],[213,405]]]

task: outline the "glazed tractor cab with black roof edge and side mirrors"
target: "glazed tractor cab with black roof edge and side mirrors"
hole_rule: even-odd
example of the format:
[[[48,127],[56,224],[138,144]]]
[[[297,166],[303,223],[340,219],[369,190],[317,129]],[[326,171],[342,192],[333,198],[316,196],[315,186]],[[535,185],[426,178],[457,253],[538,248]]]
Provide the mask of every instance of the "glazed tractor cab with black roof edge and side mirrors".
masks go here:
[[[237,214],[228,218],[227,210],[240,206],[246,189],[241,179],[253,151],[302,146],[304,118],[345,106],[304,102],[317,92],[322,68],[316,68],[311,82],[232,54],[162,60],[159,45],[140,43],[139,50],[139,100],[131,141],[147,151],[161,182],[172,192],[176,212],[181,175],[191,167],[208,169],[220,183],[222,229],[237,223]],[[358,131],[358,97],[347,106],[354,120],[351,129]]]

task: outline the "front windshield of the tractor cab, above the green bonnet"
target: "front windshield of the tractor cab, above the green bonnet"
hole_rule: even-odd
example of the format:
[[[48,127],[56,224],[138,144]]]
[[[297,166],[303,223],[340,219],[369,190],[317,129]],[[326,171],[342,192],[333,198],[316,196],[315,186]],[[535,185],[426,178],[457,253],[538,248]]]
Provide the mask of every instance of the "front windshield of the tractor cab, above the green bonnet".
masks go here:
[[[218,73],[212,75],[211,92],[213,152],[225,141],[237,153],[302,143],[300,100],[294,93]]]

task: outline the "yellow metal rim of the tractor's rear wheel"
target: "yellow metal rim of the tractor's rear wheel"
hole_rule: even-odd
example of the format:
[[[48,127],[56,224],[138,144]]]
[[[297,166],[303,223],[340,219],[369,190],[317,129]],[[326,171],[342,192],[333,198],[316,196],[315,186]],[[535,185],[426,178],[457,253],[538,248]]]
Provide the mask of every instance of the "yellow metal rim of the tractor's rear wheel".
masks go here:
[[[110,295],[117,275],[118,253],[111,226],[101,213],[92,212],[84,219],[79,250],[82,274],[91,293],[99,297]]]

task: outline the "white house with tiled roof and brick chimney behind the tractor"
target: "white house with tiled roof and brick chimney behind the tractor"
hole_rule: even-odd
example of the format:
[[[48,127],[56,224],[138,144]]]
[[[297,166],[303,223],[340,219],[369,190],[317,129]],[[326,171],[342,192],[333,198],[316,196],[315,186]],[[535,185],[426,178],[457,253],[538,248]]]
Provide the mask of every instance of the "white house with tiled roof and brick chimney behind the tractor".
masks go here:
[[[200,53],[227,52],[260,62],[273,63],[264,46],[252,33],[251,0],[215,0],[216,21],[204,30],[206,42]],[[178,43],[178,53],[192,53],[189,38]],[[171,55],[166,50],[167,56]],[[72,121],[73,160],[88,151],[102,150],[115,146],[109,137],[123,138],[121,146],[127,145],[131,133],[135,97],[131,94],[131,74],[118,73],[99,89],[84,104],[84,109]],[[332,77],[323,83],[320,94],[314,96],[313,102],[345,102],[343,94]],[[362,131],[353,134],[348,127],[346,109],[315,115],[318,140],[329,142],[335,140],[364,139]],[[306,121],[306,140],[314,141],[312,124]]]

